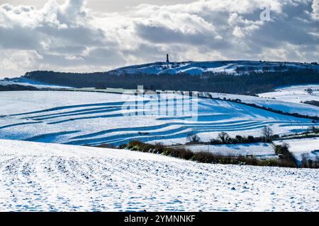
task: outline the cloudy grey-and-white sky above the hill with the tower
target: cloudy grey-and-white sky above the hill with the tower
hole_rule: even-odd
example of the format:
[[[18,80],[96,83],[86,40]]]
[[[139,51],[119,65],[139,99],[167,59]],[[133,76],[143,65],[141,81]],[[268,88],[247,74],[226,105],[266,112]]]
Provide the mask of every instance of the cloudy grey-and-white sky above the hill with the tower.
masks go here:
[[[0,0],[0,77],[107,71],[166,53],[318,61],[319,0]]]

